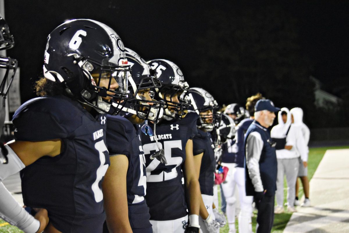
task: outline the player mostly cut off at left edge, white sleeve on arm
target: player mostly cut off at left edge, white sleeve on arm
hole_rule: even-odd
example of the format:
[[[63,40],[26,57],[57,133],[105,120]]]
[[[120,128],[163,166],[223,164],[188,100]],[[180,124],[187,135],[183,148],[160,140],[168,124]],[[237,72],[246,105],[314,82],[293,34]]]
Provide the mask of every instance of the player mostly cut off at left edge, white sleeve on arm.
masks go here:
[[[0,15],[0,50],[10,49],[13,46],[14,38],[10,33],[7,22]],[[4,72],[0,84],[0,129],[2,129],[6,115],[5,99],[16,73],[17,60],[0,55],[0,69]],[[10,167],[13,166],[13,164],[11,164],[13,161],[8,165],[8,151],[2,143],[0,143],[0,147],[0,217],[25,232],[42,232],[49,222],[47,210],[35,209],[37,212],[35,217],[31,216],[16,202],[10,192],[1,183],[1,181],[8,176],[6,173],[11,170]],[[6,166],[9,167],[6,168]]]

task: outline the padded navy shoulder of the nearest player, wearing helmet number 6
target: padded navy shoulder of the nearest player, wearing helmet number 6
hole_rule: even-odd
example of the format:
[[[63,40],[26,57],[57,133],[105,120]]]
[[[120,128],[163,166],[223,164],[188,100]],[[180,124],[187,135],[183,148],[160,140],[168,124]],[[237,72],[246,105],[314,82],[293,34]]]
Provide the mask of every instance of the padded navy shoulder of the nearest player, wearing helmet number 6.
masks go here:
[[[68,97],[38,97],[21,105],[13,115],[14,136],[23,141],[67,138],[89,114]],[[91,115],[88,115],[91,117]]]

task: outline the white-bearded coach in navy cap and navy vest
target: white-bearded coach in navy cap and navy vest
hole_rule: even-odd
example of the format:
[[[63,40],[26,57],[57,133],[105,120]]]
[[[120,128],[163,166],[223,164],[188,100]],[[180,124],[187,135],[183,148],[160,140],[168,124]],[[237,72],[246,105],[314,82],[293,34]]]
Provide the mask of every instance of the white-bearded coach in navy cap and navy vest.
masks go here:
[[[270,232],[274,221],[277,160],[268,128],[274,122],[274,112],[279,110],[272,101],[259,100],[254,121],[245,135],[246,195],[254,196],[258,209],[257,233]]]

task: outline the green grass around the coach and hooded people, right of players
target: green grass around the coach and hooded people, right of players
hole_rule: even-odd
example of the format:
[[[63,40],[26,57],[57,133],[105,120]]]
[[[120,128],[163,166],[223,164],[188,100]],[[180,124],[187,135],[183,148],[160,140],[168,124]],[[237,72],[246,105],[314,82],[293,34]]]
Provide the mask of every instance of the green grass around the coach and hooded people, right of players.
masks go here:
[[[316,168],[318,167],[322,157],[324,156],[326,150],[329,149],[345,149],[349,148],[349,146],[333,146],[333,147],[316,147],[316,148],[309,148],[309,158],[308,158],[308,178],[311,180],[313,177]],[[284,180],[284,203],[286,201],[286,194],[287,194],[287,184],[286,180]],[[299,199],[303,196],[303,187],[302,183],[300,182],[300,188],[299,188]],[[218,195],[218,198],[220,199],[220,195]],[[311,197],[310,197],[311,199]],[[219,200],[220,201],[220,200]],[[286,211],[286,208],[285,208]],[[284,228],[286,227],[286,224],[291,218],[291,213],[282,213],[282,214],[275,214],[274,218],[274,225],[272,228],[273,233],[282,233]],[[256,217],[257,217],[257,211],[254,211],[254,217],[252,217],[252,229],[253,232],[255,232],[255,227],[256,227]],[[236,226],[236,232],[238,231],[238,223],[237,220],[235,221],[235,226]],[[220,233],[228,233],[229,227],[228,224],[225,225],[220,229]]]

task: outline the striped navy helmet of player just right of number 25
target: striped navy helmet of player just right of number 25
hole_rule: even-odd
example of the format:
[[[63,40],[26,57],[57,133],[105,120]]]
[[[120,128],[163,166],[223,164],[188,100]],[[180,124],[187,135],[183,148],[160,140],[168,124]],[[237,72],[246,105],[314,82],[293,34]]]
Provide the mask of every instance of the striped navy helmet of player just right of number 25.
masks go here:
[[[206,90],[192,87],[186,93],[191,101],[188,110],[195,111],[199,115],[198,128],[212,131],[217,129],[221,122],[221,112],[217,111],[218,104],[213,96]]]

